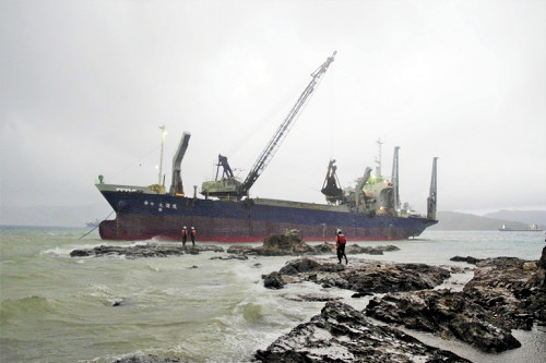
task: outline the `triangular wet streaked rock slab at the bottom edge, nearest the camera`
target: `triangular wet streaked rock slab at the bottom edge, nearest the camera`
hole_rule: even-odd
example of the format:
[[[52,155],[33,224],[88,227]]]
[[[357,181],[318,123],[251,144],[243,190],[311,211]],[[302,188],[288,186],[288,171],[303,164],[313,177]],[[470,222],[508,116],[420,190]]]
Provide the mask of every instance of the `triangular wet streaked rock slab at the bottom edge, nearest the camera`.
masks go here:
[[[341,302],[328,302],[321,314],[259,350],[260,362],[468,362],[432,348]]]

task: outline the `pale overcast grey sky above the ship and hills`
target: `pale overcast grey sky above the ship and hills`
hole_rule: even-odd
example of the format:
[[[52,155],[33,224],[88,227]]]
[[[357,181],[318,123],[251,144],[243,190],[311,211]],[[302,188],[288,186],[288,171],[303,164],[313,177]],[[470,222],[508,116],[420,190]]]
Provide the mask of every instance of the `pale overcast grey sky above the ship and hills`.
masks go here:
[[[426,209],[546,209],[546,1],[0,1],[1,203],[106,203],[157,182],[191,133],[185,191],[217,155],[245,179],[337,56],[252,196],[322,203],[375,167]]]

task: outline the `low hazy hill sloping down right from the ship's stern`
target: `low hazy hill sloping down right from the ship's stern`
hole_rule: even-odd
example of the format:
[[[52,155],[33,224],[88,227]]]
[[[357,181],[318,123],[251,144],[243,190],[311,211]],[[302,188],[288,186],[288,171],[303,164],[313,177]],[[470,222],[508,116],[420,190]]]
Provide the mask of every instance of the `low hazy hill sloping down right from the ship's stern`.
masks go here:
[[[429,229],[449,231],[496,231],[502,227],[502,225],[512,228],[526,228],[529,226],[529,223],[513,220],[479,217],[455,211],[438,211],[437,218],[439,220],[438,225]]]

